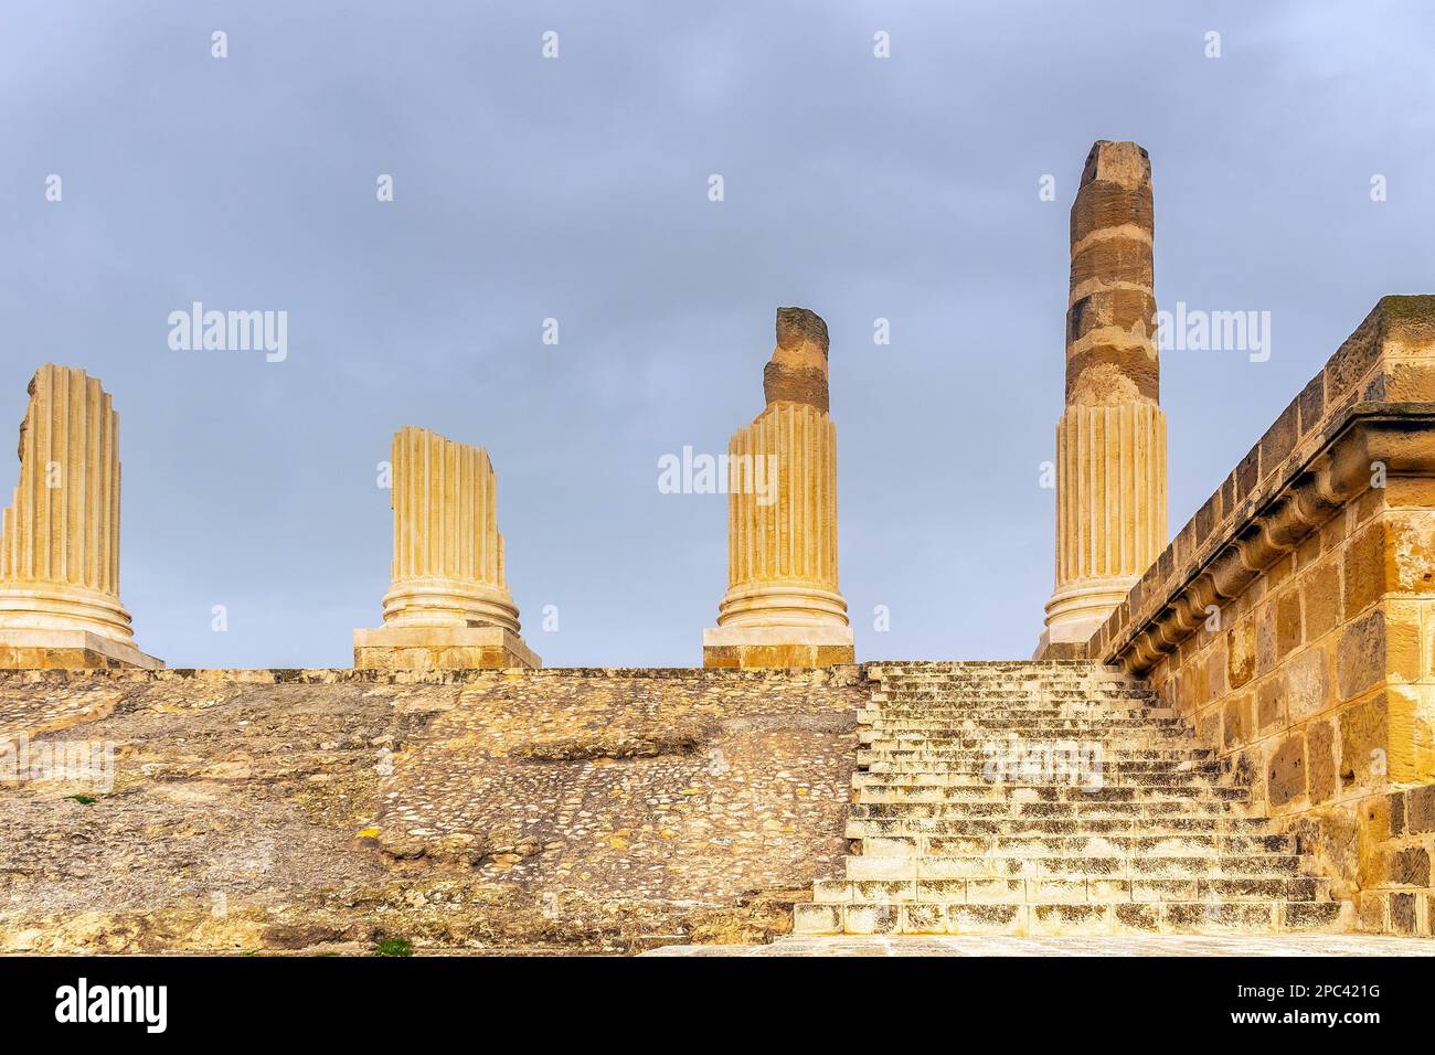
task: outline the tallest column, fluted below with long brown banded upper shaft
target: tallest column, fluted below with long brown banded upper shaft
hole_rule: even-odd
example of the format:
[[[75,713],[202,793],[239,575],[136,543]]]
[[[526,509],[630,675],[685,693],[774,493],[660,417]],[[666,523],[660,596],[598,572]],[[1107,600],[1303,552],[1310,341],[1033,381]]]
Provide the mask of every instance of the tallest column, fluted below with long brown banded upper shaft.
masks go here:
[[[1079,655],[1167,545],[1152,231],[1147,152],[1098,142],[1072,205],[1056,589],[1038,656]]]

